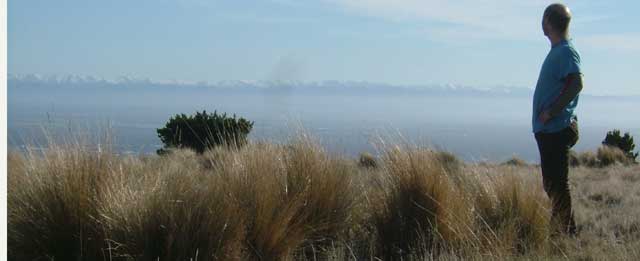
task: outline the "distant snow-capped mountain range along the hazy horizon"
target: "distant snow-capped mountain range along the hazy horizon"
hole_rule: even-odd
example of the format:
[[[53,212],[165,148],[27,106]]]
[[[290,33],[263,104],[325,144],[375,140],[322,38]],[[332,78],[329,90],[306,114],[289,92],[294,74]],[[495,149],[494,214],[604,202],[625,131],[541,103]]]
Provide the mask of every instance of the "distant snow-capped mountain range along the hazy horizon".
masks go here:
[[[469,94],[469,95],[530,95],[531,89],[513,86],[473,87],[458,84],[393,85],[367,81],[155,81],[149,78],[121,76],[116,79],[86,75],[9,74],[9,88],[211,88],[225,91],[286,91],[350,94]]]

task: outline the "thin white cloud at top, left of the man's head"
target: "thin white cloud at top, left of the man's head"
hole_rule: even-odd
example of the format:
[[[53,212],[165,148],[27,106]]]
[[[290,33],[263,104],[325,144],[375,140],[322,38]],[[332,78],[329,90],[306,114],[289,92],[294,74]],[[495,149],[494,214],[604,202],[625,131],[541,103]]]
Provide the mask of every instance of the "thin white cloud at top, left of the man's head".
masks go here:
[[[334,5],[393,20],[419,19],[444,28],[480,32],[487,38],[537,37],[542,10],[548,1],[488,0],[326,0]],[[441,30],[438,28],[438,30]],[[436,32],[438,31],[436,30]],[[442,34],[439,32],[439,34]],[[457,33],[453,33],[455,35]],[[533,35],[532,35],[533,34]]]

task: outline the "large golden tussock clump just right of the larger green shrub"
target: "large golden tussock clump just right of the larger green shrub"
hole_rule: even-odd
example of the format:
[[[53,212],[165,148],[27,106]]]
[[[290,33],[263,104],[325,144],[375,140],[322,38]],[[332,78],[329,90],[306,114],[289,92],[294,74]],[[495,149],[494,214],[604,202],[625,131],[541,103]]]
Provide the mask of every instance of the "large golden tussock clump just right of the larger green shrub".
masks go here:
[[[298,140],[227,152],[214,164],[214,175],[245,212],[248,253],[273,260],[330,245],[352,227],[353,168]]]

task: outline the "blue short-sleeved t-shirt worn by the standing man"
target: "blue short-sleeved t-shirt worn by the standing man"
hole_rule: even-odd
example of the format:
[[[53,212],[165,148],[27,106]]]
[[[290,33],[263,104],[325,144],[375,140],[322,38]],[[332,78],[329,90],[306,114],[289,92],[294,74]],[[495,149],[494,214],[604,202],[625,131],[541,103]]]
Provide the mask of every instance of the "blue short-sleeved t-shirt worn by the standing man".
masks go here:
[[[538,120],[540,113],[551,108],[556,102],[563,88],[567,85],[567,76],[580,73],[580,54],[573,45],[563,40],[553,47],[540,69],[538,83],[533,94],[533,132],[558,132],[576,118],[574,110],[578,105],[578,96],[573,99],[560,114],[551,118],[546,124]]]

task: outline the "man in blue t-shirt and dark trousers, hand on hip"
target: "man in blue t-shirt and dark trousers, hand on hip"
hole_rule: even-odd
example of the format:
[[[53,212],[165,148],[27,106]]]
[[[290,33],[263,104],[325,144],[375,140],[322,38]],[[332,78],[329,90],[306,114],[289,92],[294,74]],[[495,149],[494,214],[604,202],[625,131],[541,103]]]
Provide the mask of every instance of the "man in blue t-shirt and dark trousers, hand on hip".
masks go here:
[[[551,50],[542,64],[533,96],[533,132],[540,151],[542,183],[552,203],[554,232],[575,235],[569,193],[569,149],[578,141],[578,94],[582,90],[580,55],[569,38],[571,12],[562,4],[548,6],[542,30]]]

